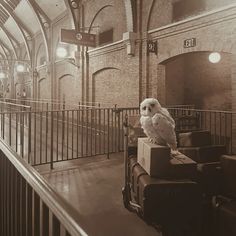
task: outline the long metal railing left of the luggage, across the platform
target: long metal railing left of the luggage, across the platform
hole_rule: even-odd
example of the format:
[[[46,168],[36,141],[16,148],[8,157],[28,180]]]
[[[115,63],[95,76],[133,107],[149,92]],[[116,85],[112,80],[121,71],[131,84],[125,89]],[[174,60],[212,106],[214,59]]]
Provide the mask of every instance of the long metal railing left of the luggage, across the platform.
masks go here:
[[[122,122],[111,108],[0,113],[0,135],[32,165],[119,152]]]

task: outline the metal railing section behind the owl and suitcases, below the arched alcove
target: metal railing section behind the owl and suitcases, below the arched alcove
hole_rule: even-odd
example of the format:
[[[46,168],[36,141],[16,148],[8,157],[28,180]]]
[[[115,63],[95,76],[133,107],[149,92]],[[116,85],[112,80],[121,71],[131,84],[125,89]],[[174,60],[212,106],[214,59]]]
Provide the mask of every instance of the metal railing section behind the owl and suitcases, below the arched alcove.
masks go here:
[[[192,109],[191,105],[168,107],[168,110],[176,122],[176,132],[208,130],[213,145],[225,145],[227,154],[236,153],[236,112]],[[139,108],[118,111],[121,117],[139,115]]]

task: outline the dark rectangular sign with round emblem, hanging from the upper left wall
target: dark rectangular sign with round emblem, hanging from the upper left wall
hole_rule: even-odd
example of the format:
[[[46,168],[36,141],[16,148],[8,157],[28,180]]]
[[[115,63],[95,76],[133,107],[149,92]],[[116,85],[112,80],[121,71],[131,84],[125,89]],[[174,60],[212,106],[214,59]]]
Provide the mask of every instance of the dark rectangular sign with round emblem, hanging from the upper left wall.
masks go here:
[[[87,47],[96,47],[96,35],[76,30],[61,29],[61,42]]]

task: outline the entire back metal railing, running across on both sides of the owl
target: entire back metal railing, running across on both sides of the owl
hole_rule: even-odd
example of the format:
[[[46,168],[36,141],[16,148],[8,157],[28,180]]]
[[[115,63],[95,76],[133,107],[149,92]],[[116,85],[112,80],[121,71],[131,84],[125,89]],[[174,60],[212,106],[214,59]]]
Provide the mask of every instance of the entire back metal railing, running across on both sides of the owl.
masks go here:
[[[236,115],[227,111],[168,108],[176,131],[205,129],[212,144],[224,144],[229,154],[236,147]],[[123,151],[125,116],[139,108],[82,106],[72,110],[0,112],[0,136],[32,165]]]

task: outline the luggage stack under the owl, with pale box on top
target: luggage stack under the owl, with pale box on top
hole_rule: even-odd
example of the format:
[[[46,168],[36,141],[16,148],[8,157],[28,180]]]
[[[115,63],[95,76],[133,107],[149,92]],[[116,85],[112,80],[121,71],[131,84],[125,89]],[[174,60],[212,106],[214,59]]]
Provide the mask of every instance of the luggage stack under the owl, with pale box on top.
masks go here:
[[[185,155],[171,158],[169,147],[139,138],[128,169],[132,196],[146,222],[161,225],[164,235],[200,235],[202,204],[195,161]]]

